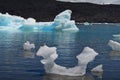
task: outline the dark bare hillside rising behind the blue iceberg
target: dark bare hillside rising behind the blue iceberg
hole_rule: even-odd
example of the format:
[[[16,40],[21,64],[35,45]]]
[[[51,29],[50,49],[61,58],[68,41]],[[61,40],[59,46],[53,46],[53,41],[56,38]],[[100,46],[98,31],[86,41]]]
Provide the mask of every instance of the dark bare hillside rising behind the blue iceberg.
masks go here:
[[[0,12],[33,17],[37,21],[53,21],[54,17],[66,10],[73,11],[76,22],[120,23],[120,5],[97,5],[91,3],[68,3],[55,0],[0,0]]]

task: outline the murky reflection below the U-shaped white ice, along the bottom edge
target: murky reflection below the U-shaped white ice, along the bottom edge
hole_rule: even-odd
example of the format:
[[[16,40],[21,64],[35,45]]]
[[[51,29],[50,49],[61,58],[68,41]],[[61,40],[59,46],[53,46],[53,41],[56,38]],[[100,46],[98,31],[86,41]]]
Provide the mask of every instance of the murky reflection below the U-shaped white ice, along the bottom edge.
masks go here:
[[[63,75],[56,75],[56,74],[46,74],[44,76],[44,80],[95,80],[91,75],[85,76],[63,76]]]

